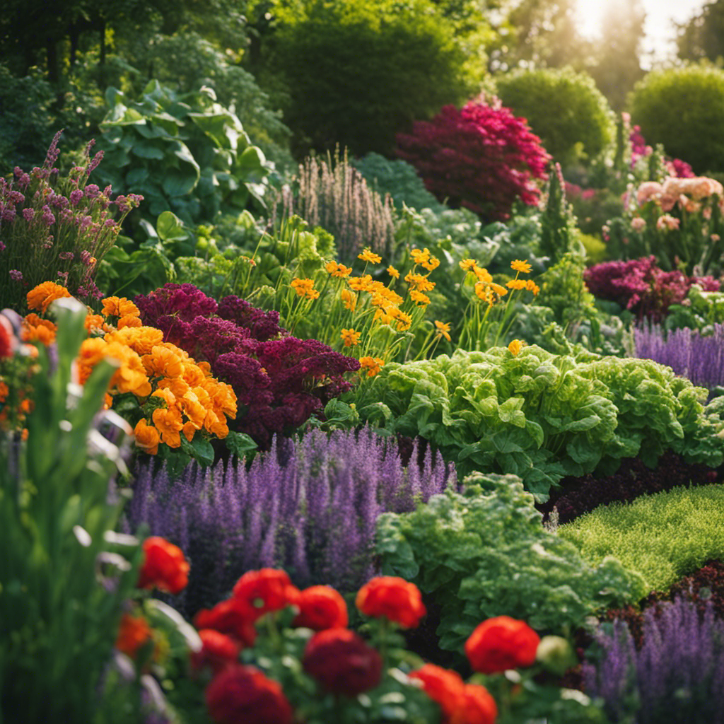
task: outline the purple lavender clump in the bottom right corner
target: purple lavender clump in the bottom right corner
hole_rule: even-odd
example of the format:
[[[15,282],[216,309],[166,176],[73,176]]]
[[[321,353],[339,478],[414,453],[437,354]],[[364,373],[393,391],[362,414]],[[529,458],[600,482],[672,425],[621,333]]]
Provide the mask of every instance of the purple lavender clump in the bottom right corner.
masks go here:
[[[703,617],[681,598],[650,607],[639,650],[620,620],[597,640],[602,657],[584,664],[586,692],[605,700],[613,722],[724,722],[724,621],[711,605]]]

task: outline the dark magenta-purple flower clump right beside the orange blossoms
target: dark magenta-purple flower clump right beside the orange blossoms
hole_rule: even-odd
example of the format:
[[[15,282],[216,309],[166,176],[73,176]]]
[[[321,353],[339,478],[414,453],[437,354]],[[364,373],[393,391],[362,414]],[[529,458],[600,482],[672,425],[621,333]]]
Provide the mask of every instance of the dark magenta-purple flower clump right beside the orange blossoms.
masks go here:
[[[143,324],[163,330],[165,341],[208,362],[217,379],[232,385],[238,413],[230,428],[261,450],[350,390],[344,375],[360,366],[319,340],[290,337],[278,312],[236,296],[216,303],[193,285],[167,284],[134,301]]]

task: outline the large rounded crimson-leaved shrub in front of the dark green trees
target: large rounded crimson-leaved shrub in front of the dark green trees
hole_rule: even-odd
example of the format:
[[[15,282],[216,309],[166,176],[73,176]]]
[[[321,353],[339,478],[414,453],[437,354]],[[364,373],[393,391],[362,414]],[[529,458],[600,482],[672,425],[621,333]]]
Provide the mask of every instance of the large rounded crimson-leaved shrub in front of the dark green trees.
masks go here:
[[[397,134],[396,153],[441,201],[487,221],[510,219],[518,199],[538,203],[536,179],[546,178],[550,161],[526,119],[483,96],[461,110],[444,106],[432,121],[416,121],[411,133]]]

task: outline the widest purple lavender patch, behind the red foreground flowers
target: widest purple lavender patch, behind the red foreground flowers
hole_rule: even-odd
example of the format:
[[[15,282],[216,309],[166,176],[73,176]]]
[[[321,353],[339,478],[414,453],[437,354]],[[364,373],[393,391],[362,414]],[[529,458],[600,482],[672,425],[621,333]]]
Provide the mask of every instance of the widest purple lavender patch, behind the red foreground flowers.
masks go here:
[[[165,468],[140,466],[127,520],[182,548],[190,580],[173,604],[193,615],[254,568],[285,568],[298,586],[358,589],[374,573],[379,515],[413,510],[455,480],[429,448],[403,467],[397,446],[369,428],[315,430],[301,442],[277,437],[248,469],[193,465],[171,482]]]

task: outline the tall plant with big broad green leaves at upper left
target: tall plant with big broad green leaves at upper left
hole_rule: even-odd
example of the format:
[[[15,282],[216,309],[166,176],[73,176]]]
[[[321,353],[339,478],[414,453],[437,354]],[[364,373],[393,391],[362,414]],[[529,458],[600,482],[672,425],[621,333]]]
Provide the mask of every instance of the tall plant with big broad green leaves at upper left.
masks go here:
[[[125,105],[114,88],[106,98],[99,146],[107,160],[98,175],[114,190],[142,193],[147,220],[173,211],[193,225],[262,203],[264,154],[212,90],[177,95],[154,81],[138,102]]]

